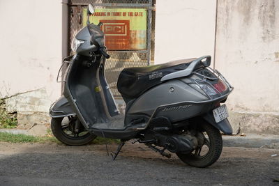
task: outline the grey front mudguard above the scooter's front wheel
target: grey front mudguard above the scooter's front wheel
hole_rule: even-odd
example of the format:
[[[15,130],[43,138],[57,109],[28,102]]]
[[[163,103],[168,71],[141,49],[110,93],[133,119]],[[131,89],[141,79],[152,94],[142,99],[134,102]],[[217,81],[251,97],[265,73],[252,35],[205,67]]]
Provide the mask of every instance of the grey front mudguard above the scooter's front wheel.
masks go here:
[[[52,104],[52,107],[50,107],[50,116],[52,118],[61,118],[75,115],[75,111],[64,96],[61,96],[61,98],[54,102],[54,104]]]

